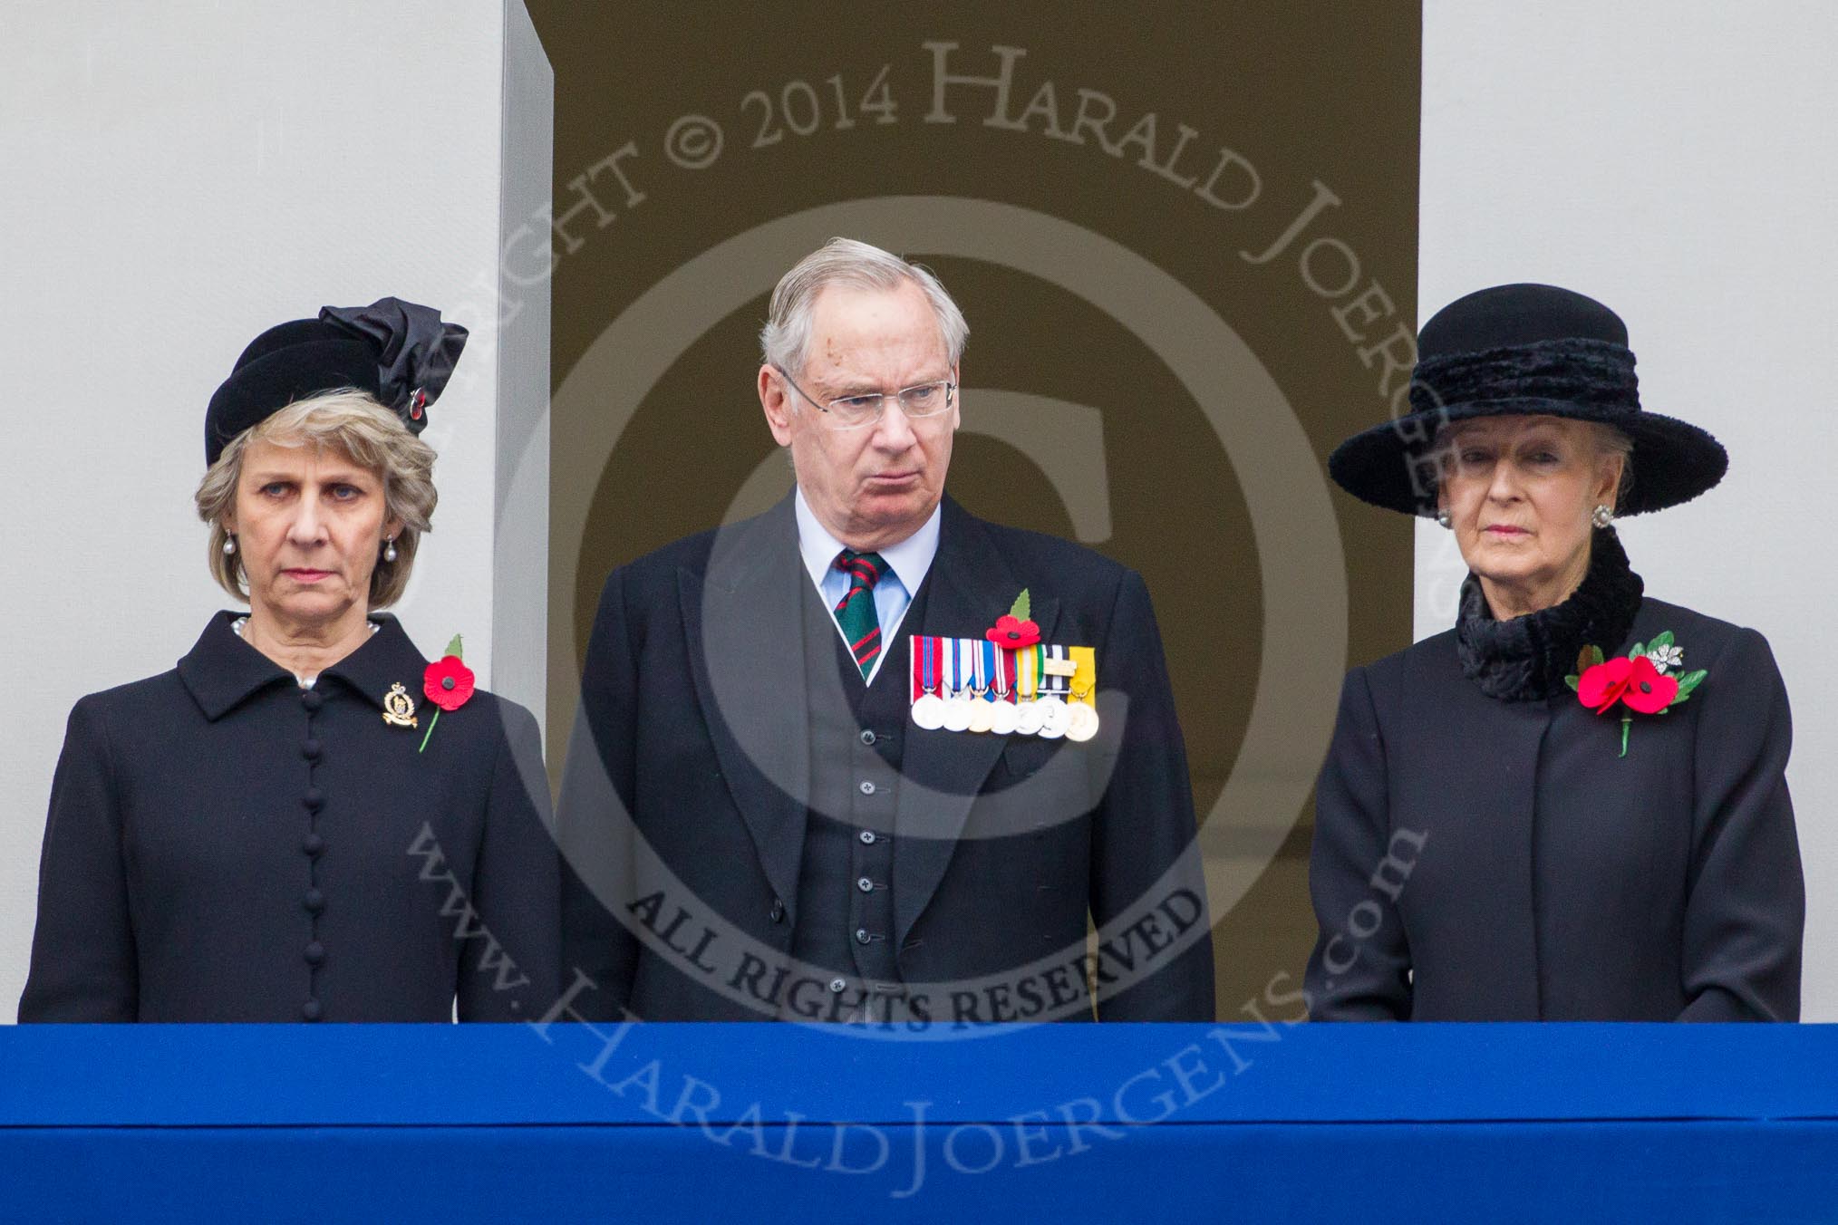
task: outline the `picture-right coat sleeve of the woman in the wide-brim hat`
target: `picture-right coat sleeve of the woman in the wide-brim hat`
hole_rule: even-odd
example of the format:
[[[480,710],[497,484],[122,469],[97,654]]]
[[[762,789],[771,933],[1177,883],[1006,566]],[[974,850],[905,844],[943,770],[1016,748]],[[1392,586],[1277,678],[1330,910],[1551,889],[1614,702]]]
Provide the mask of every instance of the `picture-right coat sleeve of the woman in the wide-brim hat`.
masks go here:
[[[1787,793],[1792,716],[1768,641],[1739,630],[1691,694],[1696,804],[1684,1021],[1798,1021],[1807,891]]]

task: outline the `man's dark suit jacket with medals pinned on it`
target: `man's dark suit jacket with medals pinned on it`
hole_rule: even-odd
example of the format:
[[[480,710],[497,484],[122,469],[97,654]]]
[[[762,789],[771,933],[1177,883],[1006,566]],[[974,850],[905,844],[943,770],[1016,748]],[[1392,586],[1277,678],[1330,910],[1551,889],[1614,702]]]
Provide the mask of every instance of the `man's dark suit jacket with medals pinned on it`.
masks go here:
[[[581,872],[564,871],[562,977],[566,986],[579,970],[594,984],[572,1001],[581,1016],[770,1016],[807,823],[809,586],[790,498],[607,579],[561,799],[566,858]],[[1178,955],[1165,946],[1195,902],[1189,926],[1208,920],[1186,749],[1141,579],[947,498],[925,624],[908,619],[899,634],[981,635],[1022,588],[1042,641],[1095,648],[1105,731],[1068,744],[906,724],[893,852],[901,975],[930,1019],[1048,1014],[1079,994],[1090,911],[1101,927],[1125,927],[1105,933],[1114,955],[1099,959],[1101,979],[1160,964],[1101,999],[1101,1017],[1211,1019],[1209,937]],[[886,681],[904,685],[877,685]],[[1176,891],[1187,898],[1156,913]],[[1035,966],[1026,984],[974,983],[1018,966]]]

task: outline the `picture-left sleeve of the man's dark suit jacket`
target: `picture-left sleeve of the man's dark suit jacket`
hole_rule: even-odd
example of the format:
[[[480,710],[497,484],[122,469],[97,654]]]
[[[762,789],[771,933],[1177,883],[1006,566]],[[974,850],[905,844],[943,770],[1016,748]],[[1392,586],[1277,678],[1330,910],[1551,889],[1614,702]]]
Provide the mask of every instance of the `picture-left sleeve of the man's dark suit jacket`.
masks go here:
[[[581,672],[581,709],[562,770],[562,992],[590,1021],[625,1017],[638,938],[608,905],[634,896],[638,656],[625,608],[625,571],[607,579]]]

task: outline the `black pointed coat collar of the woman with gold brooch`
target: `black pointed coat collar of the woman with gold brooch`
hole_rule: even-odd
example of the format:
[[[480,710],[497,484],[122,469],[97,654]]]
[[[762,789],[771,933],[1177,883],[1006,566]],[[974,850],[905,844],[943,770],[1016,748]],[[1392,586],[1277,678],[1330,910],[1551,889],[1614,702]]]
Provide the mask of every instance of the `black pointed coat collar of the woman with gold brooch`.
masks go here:
[[[204,718],[219,720],[237,707],[244,698],[270,685],[294,685],[292,672],[268,659],[265,654],[243,641],[230,624],[244,613],[221,612],[213,615],[197,645],[178,661],[178,678],[186,683],[191,698],[204,711]],[[426,657],[415,650],[403,624],[388,613],[373,613],[377,632],[349,656],[320,674],[320,685],[327,678],[349,685],[364,694],[379,709],[391,685],[403,685],[417,705],[421,700],[421,674],[426,670]]]

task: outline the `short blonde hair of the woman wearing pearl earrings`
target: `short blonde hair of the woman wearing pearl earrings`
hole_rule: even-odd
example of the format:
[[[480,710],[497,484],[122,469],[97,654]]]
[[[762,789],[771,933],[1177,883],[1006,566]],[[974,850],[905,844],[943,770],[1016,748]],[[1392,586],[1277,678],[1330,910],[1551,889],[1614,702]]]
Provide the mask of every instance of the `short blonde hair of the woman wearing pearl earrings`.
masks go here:
[[[388,608],[403,597],[408,575],[415,568],[415,544],[430,531],[434,503],[434,448],[408,432],[403,419],[377,402],[368,391],[322,391],[294,400],[272,417],[230,439],[222,455],[199,481],[199,518],[210,523],[211,579],[235,599],[248,602],[248,584],[243,575],[241,553],[224,553],[230,531],[224,518],[235,509],[235,490],[243,479],[243,455],[250,443],[276,446],[316,446],[336,450],[351,463],[375,472],[382,479],[382,507],[386,520],[401,520],[395,536],[395,560],[377,558],[369,573],[369,608]]]

